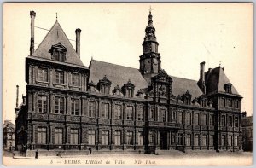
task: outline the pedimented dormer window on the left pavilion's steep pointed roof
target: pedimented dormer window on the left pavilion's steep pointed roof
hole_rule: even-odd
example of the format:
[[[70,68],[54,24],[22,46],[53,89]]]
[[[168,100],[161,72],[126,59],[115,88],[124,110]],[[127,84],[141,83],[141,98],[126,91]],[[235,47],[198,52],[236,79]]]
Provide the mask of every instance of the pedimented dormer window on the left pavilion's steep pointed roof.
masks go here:
[[[67,48],[61,43],[52,45],[49,49],[49,53],[51,54],[51,60],[61,62],[67,61]]]

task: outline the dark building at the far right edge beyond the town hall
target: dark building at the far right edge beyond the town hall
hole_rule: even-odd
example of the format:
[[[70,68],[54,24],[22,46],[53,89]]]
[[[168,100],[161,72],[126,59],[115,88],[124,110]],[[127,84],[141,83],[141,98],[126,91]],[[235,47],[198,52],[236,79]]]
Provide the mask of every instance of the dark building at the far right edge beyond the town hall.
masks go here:
[[[242,150],[253,152],[253,116],[242,113]]]

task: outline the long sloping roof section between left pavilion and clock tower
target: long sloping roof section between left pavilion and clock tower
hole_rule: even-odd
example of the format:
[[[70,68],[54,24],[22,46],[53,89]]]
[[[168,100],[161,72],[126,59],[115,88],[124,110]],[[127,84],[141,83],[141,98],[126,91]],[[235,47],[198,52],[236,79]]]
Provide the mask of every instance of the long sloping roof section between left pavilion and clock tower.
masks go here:
[[[112,82],[110,94],[113,94],[112,91],[117,84],[121,88],[124,84],[127,84],[129,79],[135,85],[134,94],[137,94],[140,89],[148,88],[148,83],[136,68],[91,60],[89,82],[93,81],[97,84],[105,75]]]

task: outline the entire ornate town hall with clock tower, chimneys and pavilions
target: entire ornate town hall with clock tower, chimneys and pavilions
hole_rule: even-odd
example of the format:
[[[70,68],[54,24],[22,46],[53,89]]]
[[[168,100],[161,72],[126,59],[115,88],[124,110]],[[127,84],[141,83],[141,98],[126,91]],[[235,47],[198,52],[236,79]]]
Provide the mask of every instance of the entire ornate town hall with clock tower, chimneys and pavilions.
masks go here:
[[[26,103],[16,112],[16,149],[84,151],[241,150],[241,95],[224,68],[200,64],[200,79],[161,67],[153,16],[139,69],[80,60],[58,21],[26,57]]]

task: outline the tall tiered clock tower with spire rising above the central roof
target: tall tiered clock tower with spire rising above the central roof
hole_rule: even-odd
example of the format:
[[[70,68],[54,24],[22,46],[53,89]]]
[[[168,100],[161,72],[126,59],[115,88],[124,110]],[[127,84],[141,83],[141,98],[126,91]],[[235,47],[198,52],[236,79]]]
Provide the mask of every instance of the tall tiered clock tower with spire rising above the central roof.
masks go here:
[[[145,38],[143,41],[143,55],[140,56],[140,72],[143,78],[150,83],[150,78],[154,77],[160,71],[161,60],[158,53],[158,43],[155,37],[155,28],[153,26],[151,8],[148,15],[148,26],[146,26]]]

